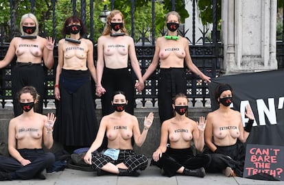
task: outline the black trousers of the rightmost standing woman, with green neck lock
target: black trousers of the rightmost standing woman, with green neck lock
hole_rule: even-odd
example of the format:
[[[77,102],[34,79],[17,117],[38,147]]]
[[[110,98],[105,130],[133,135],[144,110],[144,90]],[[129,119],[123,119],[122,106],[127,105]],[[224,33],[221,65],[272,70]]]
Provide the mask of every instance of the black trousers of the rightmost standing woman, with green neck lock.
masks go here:
[[[187,95],[185,69],[161,69],[158,79],[158,114],[160,116],[161,123],[174,116],[172,99],[178,93],[184,93]]]

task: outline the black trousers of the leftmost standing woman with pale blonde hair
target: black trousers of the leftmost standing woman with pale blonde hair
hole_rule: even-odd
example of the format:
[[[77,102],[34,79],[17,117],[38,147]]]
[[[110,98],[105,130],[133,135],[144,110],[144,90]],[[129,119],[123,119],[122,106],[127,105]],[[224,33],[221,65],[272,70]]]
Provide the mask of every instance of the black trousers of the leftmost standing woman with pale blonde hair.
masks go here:
[[[17,62],[12,69],[12,97],[14,116],[23,113],[23,109],[19,104],[18,93],[24,86],[34,86],[38,95],[38,103],[34,108],[35,112],[43,113],[43,98],[46,90],[46,74],[41,64],[21,63]]]

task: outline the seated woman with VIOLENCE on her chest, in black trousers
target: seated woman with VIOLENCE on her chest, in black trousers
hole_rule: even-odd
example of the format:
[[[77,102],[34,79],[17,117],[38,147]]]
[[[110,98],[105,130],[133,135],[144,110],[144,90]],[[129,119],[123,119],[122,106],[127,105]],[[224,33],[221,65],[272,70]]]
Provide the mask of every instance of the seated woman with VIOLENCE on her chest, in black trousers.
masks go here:
[[[199,123],[187,117],[188,99],[182,93],[174,98],[175,116],[163,122],[161,127],[161,143],[153,153],[152,164],[163,170],[163,175],[172,177],[177,173],[188,176],[204,177],[204,167],[209,163],[208,156],[193,156],[191,141],[198,151],[204,147],[204,128],[206,121],[203,116]],[[167,140],[169,139],[169,147]]]

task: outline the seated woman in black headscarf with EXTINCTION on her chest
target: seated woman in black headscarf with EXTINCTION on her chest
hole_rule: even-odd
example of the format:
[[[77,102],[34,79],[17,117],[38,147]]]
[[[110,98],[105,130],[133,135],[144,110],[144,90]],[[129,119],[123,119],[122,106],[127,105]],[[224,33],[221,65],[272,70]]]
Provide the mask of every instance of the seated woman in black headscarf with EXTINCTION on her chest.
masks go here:
[[[219,108],[207,115],[204,138],[205,153],[210,153],[211,163],[206,171],[223,172],[226,176],[243,176],[246,149],[244,144],[255,121],[250,106],[246,106],[245,115],[248,124],[244,128],[241,114],[230,108],[233,90],[228,84],[220,84],[215,89],[215,99]]]

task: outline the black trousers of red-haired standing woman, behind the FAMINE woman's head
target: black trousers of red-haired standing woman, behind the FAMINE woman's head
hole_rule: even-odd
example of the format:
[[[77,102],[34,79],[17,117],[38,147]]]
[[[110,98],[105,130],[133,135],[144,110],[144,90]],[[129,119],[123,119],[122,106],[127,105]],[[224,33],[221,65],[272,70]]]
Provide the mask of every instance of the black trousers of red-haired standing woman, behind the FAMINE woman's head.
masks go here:
[[[106,93],[102,95],[102,115],[106,116],[112,113],[113,94],[117,90],[122,90],[126,93],[126,112],[134,114],[134,83],[130,69],[108,69],[104,68],[102,77],[102,86],[106,89]]]

